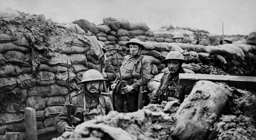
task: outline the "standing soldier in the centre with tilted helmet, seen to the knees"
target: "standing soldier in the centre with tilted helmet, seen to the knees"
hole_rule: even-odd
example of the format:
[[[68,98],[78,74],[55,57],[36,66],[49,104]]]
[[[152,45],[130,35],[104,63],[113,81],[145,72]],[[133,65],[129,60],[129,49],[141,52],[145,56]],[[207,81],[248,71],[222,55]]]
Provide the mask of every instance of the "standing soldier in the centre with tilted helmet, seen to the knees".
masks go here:
[[[141,50],[145,47],[141,44],[137,38],[132,38],[126,47],[129,48],[130,54],[125,57],[120,72],[122,80],[127,81],[127,86],[122,87],[120,82],[120,76],[116,77],[116,80],[111,85],[113,89],[113,105],[114,109],[118,112],[134,112],[138,110],[138,92],[140,86],[142,86],[141,70],[143,70],[143,84],[146,86],[150,79],[150,63],[144,59],[141,55]],[[141,58],[143,68],[141,68]],[[121,94],[121,90],[125,94]],[[127,107],[124,105],[127,103]]]

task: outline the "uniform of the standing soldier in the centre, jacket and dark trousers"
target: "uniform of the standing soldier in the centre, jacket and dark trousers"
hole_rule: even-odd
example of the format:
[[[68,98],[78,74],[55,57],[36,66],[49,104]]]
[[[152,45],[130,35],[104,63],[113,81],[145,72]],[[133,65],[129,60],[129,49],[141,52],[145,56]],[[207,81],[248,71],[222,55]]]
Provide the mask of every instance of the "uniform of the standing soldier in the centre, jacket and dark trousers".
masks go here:
[[[143,68],[141,69],[141,57]],[[126,56],[125,61],[120,67],[122,79],[127,81],[127,85],[132,85],[133,90],[126,94],[121,94],[121,84],[119,82],[120,76],[118,74],[114,83],[116,88],[113,91],[115,100],[115,110],[118,112],[124,111],[124,100],[127,100],[127,111],[134,112],[138,109],[138,92],[139,87],[142,86],[141,70],[143,70],[143,84],[146,86],[150,79],[150,63],[144,59],[141,54],[132,57],[132,55]],[[126,97],[125,97],[126,96]]]

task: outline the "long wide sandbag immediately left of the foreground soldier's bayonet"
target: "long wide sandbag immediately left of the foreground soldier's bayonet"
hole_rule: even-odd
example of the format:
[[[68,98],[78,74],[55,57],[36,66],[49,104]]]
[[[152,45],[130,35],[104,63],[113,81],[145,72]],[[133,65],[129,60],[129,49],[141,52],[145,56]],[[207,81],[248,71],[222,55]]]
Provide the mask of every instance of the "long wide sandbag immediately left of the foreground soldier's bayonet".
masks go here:
[[[64,86],[59,86],[57,84],[47,85],[47,86],[34,86],[27,89],[27,97],[30,96],[65,96],[68,94],[68,89]]]

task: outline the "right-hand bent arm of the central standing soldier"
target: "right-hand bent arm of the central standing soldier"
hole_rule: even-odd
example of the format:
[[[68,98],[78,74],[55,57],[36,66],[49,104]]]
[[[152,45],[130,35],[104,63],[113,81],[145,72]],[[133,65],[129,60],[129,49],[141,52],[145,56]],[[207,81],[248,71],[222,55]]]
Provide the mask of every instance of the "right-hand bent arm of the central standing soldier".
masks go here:
[[[150,63],[148,62],[148,60],[143,59],[143,85],[148,85],[149,79],[150,79]],[[142,78],[139,79],[136,83],[134,83],[133,85],[134,90],[138,90],[140,86],[142,86]]]

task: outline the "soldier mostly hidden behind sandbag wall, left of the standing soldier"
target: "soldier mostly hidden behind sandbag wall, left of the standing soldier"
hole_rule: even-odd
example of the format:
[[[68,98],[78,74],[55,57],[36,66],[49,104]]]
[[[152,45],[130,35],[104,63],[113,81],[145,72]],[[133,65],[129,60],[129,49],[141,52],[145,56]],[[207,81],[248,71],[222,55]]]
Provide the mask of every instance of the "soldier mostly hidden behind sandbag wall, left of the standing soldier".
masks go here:
[[[103,76],[103,78],[108,79],[106,86],[109,87],[110,82],[116,79],[116,73],[115,73],[110,61],[106,57],[106,54],[105,54],[106,50],[103,47],[102,47],[102,50],[103,50],[106,61],[105,61],[105,68],[102,70],[103,72],[101,73],[101,75]],[[108,91],[105,91],[105,92],[108,92]]]

